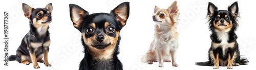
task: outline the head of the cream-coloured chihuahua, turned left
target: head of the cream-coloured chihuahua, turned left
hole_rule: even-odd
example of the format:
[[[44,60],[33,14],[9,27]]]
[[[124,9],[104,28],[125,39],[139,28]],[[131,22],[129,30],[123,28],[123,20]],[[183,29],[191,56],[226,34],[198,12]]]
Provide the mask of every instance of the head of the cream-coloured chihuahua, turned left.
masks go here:
[[[175,1],[168,9],[160,9],[155,6],[154,13],[153,21],[156,24],[174,24],[178,14],[177,2]]]

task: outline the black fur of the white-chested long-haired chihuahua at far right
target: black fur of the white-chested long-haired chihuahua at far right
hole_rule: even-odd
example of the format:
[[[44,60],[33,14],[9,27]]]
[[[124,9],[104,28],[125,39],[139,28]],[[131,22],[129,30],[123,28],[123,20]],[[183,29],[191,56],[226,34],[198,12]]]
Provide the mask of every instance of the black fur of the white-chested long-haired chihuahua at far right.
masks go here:
[[[237,9],[236,9],[236,15],[233,16],[232,13],[231,13],[231,9],[232,7],[236,6]],[[210,7],[212,7],[213,11],[210,10]],[[238,12],[238,3],[237,2],[234,2],[231,6],[228,7],[228,11],[227,10],[219,10],[218,11],[218,8],[209,2],[209,5],[208,5],[208,21],[209,21],[209,29],[210,31],[212,32],[212,34],[210,35],[210,39],[211,39],[211,47],[209,49],[209,52],[208,52],[208,59],[209,61],[206,61],[206,62],[197,62],[196,65],[203,65],[203,66],[214,66],[214,60],[211,60],[211,59],[214,59],[212,57],[210,57],[210,52],[213,52],[214,54],[214,57],[216,58],[217,57],[217,53],[219,53],[219,59],[221,60],[227,60],[228,59],[228,54],[230,55],[233,55],[235,53],[237,53],[235,56],[237,58],[233,59],[234,63],[239,63],[240,65],[245,65],[247,62],[249,62],[246,58],[241,58],[240,57],[240,52],[239,52],[239,45],[238,45],[238,42],[237,42],[237,38],[238,36],[236,35],[235,31],[237,30],[237,27],[238,27],[238,20],[237,20],[237,17],[239,17],[239,12]],[[225,49],[226,53],[224,56],[222,56],[223,54],[223,49],[218,47],[218,48],[214,48],[213,46],[213,43],[221,43],[222,40],[218,39],[218,34],[217,32],[215,31],[215,26],[214,24],[216,24],[219,20],[216,18],[218,17],[217,15],[220,15],[220,16],[225,16],[225,15],[228,15],[230,16],[230,20],[226,20],[229,24],[230,21],[232,21],[232,27],[231,27],[231,30],[228,32],[228,40],[227,42],[228,43],[231,43],[231,42],[234,42],[234,46],[233,48],[228,48],[228,49]],[[220,17],[220,18],[224,18],[224,17]],[[214,23],[215,21],[215,23]],[[232,59],[232,56],[231,58]],[[221,64],[220,64],[221,65]],[[224,65],[226,66],[226,65]]]

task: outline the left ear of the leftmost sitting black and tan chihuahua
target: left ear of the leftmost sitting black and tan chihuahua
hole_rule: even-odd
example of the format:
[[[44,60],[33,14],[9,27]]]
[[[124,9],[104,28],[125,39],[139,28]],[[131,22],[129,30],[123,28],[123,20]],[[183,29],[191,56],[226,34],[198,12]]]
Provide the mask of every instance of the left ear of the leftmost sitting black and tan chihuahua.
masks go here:
[[[23,13],[25,15],[25,17],[30,17],[30,15],[32,14],[32,9],[29,5],[27,4],[22,4],[22,9],[23,9]]]

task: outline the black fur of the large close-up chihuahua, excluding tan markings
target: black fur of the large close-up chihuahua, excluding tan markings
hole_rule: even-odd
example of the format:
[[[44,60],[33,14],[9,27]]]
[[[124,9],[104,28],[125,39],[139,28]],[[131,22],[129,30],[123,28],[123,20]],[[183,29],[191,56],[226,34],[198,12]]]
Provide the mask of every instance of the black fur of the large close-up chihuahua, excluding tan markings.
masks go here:
[[[122,9],[122,10],[119,10]],[[89,14],[88,11],[82,9],[81,7],[70,4],[70,17],[73,21],[74,27],[80,31],[81,33],[84,33],[84,38],[86,39],[94,39],[94,36],[99,35],[105,35],[108,37],[118,37],[117,42],[115,44],[114,52],[111,53],[110,59],[97,59],[97,56],[94,56],[95,54],[90,53],[90,47],[96,48],[98,50],[102,50],[104,48],[110,47],[107,46],[94,46],[95,44],[104,44],[104,42],[98,42],[93,41],[91,44],[87,44],[86,41],[84,41],[83,35],[81,36],[81,41],[84,48],[84,58],[81,60],[79,65],[79,70],[122,70],[122,63],[118,59],[117,55],[119,54],[119,42],[121,37],[117,35],[116,33],[119,32],[122,27],[126,24],[126,19],[129,17],[129,2],[124,2],[120,5],[118,5],[115,9],[111,11],[111,13],[94,13]],[[118,20],[119,15],[115,13],[115,10],[126,12],[126,19],[122,21],[123,19]],[[76,12],[84,12],[83,14],[76,13]],[[80,15],[79,17],[75,17],[74,15]],[[73,18],[79,18],[79,20],[75,20]],[[77,22],[78,21],[78,22]],[[109,22],[109,26],[105,28],[105,22]],[[124,25],[121,25],[121,23],[124,22]],[[93,28],[91,25],[95,24],[95,28]],[[79,26],[77,26],[79,25]],[[113,27],[115,32],[110,33],[108,32],[108,28]],[[88,33],[87,30],[91,29],[93,30],[92,33]],[[115,40],[114,40],[115,41]],[[113,43],[110,43],[113,44]],[[105,55],[105,54],[104,54]]]

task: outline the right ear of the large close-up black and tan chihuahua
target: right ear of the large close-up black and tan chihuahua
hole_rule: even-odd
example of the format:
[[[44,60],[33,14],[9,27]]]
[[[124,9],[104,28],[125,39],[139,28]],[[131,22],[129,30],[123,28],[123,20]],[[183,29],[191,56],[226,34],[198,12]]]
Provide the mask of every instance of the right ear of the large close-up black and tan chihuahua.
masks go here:
[[[120,21],[120,27],[124,27],[126,25],[126,20],[129,17],[130,5],[129,2],[124,2],[118,5],[115,9],[111,11],[110,14],[113,14],[116,17],[117,21]]]

